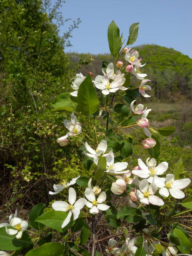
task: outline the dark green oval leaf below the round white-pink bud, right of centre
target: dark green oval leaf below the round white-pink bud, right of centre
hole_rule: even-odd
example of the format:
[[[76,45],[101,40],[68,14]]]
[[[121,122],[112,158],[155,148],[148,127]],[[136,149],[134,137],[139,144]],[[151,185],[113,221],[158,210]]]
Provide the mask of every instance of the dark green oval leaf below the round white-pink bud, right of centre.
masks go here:
[[[136,223],[142,219],[142,213],[134,207],[124,207],[117,213],[117,219],[125,219],[129,223]]]

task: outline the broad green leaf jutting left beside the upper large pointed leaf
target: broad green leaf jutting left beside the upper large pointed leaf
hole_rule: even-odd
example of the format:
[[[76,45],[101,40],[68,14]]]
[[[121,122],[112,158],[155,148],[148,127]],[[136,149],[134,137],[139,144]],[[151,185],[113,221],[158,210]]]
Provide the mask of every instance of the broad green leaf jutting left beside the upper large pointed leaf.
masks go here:
[[[73,97],[74,98],[74,97]],[[75,111],[77,103],[72,100],[70,93],[64,92],[56,96],[54,100],[51,101],[52,111]]]

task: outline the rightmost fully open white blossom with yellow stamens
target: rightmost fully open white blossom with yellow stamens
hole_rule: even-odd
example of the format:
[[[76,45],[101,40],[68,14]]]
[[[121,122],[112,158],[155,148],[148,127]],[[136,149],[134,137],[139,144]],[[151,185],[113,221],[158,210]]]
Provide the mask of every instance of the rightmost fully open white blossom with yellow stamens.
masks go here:
[[[159,177],[154,177],[154,182],[159,182]],[[159,194],[164,197],[168,197],[169,193],[172,197],[180,199],[184,198],[185,194],[181,189],[186,188],[190,184],[190,179],[175,180],[173,174],[167,174],[165,178],[165,184],[160,186]],[[159,182],[160,183],[160,182]]]

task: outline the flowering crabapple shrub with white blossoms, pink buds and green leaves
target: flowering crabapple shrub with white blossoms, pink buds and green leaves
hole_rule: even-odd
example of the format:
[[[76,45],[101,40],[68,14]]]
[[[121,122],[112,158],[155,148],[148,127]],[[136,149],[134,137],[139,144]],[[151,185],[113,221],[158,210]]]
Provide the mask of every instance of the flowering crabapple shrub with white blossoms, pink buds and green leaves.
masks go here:
[[[71,120],[64,120],[68,129],[66,135],[57,138],[57,142],[61,147],[68,143],[72,147],[79,145],[84,154],[85,168],[89,170],[92,166],[92,176],[78,176],[72,181],[66,177],[60,184],[54,184],[54,192],[49,194],[54,197],[68,189],[68,198],[54,201],[52,211],[43,212],[46,207],[43,203],[35,205],[29,214],[29,224],[17,217],[17,211],[11,215],[9,223],[0,224],[1,250],[26,256],[170,256],[190,253],[189,234],[184,229],[188,227],[180,218],[191,211],[192,197],[181,202],[189,210],[181,212],[177,208],[180,204],[177,199],[185,197],[182,190],[190,184],[190,179],[179,179],[181,161],[172,174],[167,171],[167,162],[157,164],[155,160],[160,152],[157,134],[168,136],[175,128],[150,127],[147,116],[152,109],[137,104],[134,99],[140,94],[150,97],[146,91],[151,90],[146,85],[150,82],[145,79],[147,74],[142,73],[145,64],[141,64],[139,53],[126,47],[136,41],[138,28],[139,23],[130,26],[129,37],[123,47],[119,28],[112,21],[108,40],[113,63],[103,61],[103,75],[94,77],[89,72],[85,77],[81,73],[76,74],[72,83],[74,91],[62,93],[52,102],[53,111],[72,113]],[[138,79],[137,87],[131,86],[132,76]],[[114,104],[117,100],[120,103]],[[85,118],[80,123],[82,116]],[[100,127],[97,127],[95,119],[101,120]],[[128,157],[133,151],[131,129],[138,131],[135,139],[151,156],[145,163],[145,159],[139,158],[138,166],[128,165]],[[77,198],[76,184],[84,190],[84,197]],[[126,199],[124,207],[113,205],[116,196]],[[166,201],[169,196],[172,196],[171,203]],[[102,216],[113,227],[113,234],[98,239],[97,223]],[[188,217],[185,216],[186,219]],[[60,242],[51,242],[52,233],[46,233],[45,226],[60,233],[61,237],[58,238],[59,233],[57,236]],[[72,233],[80,231],[79,244],[73,242],[72,236],[66,236],[69,229]],[[92,247],[88,252],[82,246],[90,239]],[[97,245],[107,240],[108,248],[101,254],[96,250]],[[1,251],[0,255],[8,253]]]

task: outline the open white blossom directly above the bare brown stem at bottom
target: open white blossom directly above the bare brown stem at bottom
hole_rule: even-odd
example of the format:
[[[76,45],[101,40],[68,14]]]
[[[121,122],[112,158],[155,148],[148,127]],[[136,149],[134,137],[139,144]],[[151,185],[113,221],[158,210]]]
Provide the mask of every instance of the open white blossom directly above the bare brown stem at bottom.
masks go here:
[[[88,187],[85,189],[85,197],[89,200],[86,202],[86,206],[90,208],[89,212],[91,214],[97,214],[99,213],[99,210],[106,211],[110,207],[109,205],[103,203],[107,197],[105,192],[102,192],[96,199],[92,188]]]

